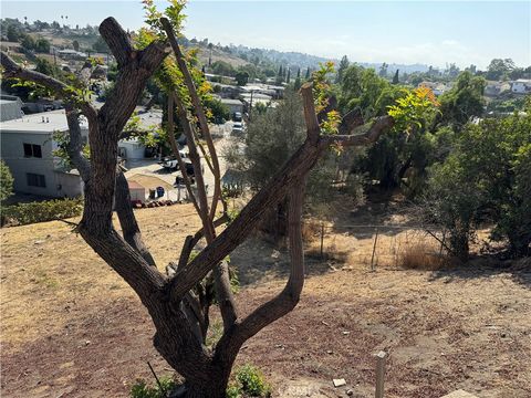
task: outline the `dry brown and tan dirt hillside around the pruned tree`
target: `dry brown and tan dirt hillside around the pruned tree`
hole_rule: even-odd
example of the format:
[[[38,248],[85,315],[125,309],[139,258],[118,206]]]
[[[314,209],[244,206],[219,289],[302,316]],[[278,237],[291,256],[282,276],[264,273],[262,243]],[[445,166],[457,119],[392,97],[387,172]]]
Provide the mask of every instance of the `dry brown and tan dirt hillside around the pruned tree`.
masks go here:
[[[137,217],[160,269],[199,227],[187,205]],[[3,397],[126,397],[136,378],[153,380],[147,362],[158,375],[171,373],[137,297],[70,226],[9,228],[0,237]],[[369,255],[372,241],[358,234],[348,244]],[[243,314],[282,289],[285,254],[254,238],[231,255]],[[435,272],[372,272],[348,256],[310,255],[306,263],[299,306],[238,357],[263,369],[274,397],[374,396],[381,349],[389,353],[386,398],[459,388],[480,398],[531,397],[529,260],[481,259]],[[334,388],[333,378],[347,385]]]

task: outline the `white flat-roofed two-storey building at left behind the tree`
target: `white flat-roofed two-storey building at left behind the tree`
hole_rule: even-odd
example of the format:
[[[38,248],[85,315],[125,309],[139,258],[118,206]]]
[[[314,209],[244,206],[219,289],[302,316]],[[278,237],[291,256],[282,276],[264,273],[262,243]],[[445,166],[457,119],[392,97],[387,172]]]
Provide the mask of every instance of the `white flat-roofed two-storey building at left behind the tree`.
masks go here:
[[[87,124],[81,124],[87,137]],[[83,192],[77,170],[70,170],[53,156],[58,149],[54,133],[66,134],[64,111],[44,112],[0,123],[1,157],[14,179],[18,192],[44,197],[76,197]]]

